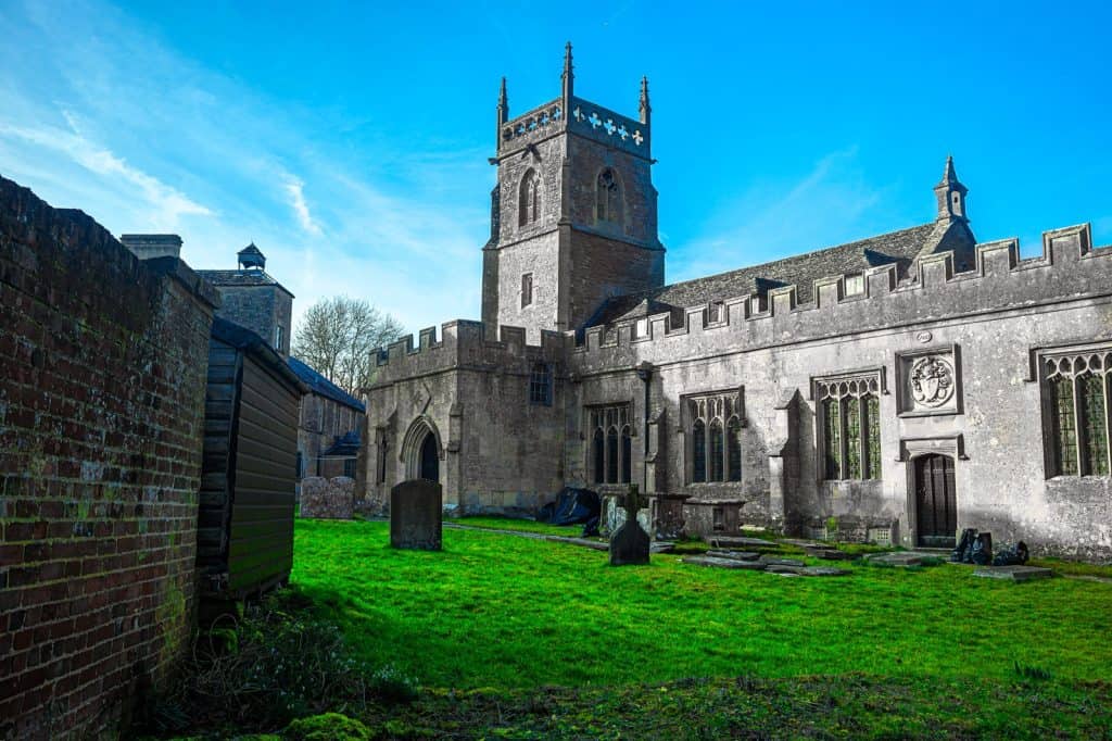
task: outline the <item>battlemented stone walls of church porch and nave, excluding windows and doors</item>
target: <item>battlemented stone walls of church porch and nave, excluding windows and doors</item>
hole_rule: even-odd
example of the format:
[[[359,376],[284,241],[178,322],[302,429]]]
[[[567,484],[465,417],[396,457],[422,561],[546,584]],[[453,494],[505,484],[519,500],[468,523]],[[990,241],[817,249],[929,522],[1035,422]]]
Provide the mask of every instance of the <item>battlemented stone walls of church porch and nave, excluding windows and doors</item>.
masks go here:
[[[906,280],[897,279],[894,266],[874,268],[860,295],[846,295],[844,276],[831,276],[815,283],[806,304],[787,286],[772,290],[759,312],[747,296],[727,298],[717,322],[708,320],[706,306],[693,306],[679,322],[672,314],[651,316],[637,336],[631,323],[594,327],[583,345],[574,333],[542,334],[536,349],[492,344],[481,325],[449,323],[443,343],[425,330],[418,347],[407,339],[389,348],[379,368],[384,385],[371,391],[369,424],[390,421],[401,427],[390,433],[397,435],[416,415],[435,418],[453,431],[445,443],[449,462],[451,446],[475,448],[481,455],[457,458],[463,470],[468,461],[493,461],[492,471],[499,472],[477,467],[455,486],[449,474],[446,492],[494,507],[499,498],[508,502],[515,486],[539,492],[535,466],[550,462],[549,442],[563,439],[563,483],[594,486],[587,411],[629,404],[632,480],[648,493],[739,500],[742,522],[795,531],[832,516],[860,520],[866,528],[887,526],[904,545],[916,544],[912,462],[934,449],[955,461],[960,527],[992,531],[997,541],[1023,539],[1044,553],[1108,557],[1112,484],[1108,476],[1049,470],[1045,396],[1034,358],[1050,348],[1112,343],[1112,248],[1094,248],[1088,227],[1046,233],[1044,243],[1044,255],[1027,260],[1019,259],[1014,241],[980,245],[975,268],[965,273],[954,273],[950,254],[923,258]],[[503,327],[503,337],[507,332],[515,337],[520,330]],[[560,368],[562,429],[555,421],[530,419],[507,393],[525,387],[514,376],[538,352]],[[953,408],[903,408],[901,358],[916,353],[951,358],[959,384]],[[637,375],[643,365],[649,369],[647,436]],[[468,373],[486,377],[465,383]],[[853,373],[874,374],[882,386],[881,476],[824,481],[814,383]],[[711,393],[743,401],[741,482],[692,482],[684,399]],[[389,403],[376,407],[384,394]],[[399,465],[396,455],[393,466]]]

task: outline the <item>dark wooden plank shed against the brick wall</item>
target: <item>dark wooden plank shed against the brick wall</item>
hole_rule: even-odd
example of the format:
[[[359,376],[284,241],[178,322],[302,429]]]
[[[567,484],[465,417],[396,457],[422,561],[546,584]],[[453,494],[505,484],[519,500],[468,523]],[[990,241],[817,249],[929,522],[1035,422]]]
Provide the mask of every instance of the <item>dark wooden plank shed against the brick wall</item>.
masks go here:
[[[305,391],[261,337],[214,320],[197,533],[201,610],[209,616],[289,577]]]

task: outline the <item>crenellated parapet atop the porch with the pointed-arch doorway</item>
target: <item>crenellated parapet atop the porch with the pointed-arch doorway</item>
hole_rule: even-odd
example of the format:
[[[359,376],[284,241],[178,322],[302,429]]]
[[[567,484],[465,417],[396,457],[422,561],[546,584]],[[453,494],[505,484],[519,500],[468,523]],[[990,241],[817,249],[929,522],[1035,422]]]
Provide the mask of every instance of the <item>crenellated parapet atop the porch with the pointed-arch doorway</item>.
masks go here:
[[[529,345],[524,327],[506,325],[498,327],[497,340],[487,339],[481,322],[456,319],[440,325],[439,339],[436,327],[427,327],[417,333],[416,343],[409,335],[373,350],[377,372],[370,388],[453,369],[524,369],[529,363],[556,363],[573,344],[572,336],[542,332],[540,344]]]

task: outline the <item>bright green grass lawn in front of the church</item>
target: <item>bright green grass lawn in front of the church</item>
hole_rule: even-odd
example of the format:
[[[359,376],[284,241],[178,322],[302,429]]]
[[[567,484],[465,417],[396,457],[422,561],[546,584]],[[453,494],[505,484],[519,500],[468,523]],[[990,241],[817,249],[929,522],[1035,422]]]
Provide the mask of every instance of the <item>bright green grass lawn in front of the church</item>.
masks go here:
[[[355,650],[433,689],[620,686],[693,676],[1010,681],[1016,662],[1112,680],[1112,585],[850,566],[785,579],[446,530],[394,551],[381,522],[297,522],[292,582]]]

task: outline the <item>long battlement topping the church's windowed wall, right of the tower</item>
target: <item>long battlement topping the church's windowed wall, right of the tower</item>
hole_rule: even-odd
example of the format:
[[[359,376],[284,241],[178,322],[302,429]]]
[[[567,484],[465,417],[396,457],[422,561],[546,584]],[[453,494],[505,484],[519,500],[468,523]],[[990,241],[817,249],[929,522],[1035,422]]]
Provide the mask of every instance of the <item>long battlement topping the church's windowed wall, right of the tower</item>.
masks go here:
[[[1112,247],[1094,248],[1090,225],[1043,234],[1043,254],[1020,259],[1019,240],[977,245],[976,265],[954,271],[952,253],[917,261],[900,280],[896,266],[865,271],[861,293],[847,294],[845,275],[814,281],[813,298],[798,303],[796,286],[724,299],[712,320],[707,305],[587,328],[569,360],[577,369],[622,367],[642,360],[706,357],[838,334],[945,320],[1037,304],[1112,295]],[[1112,332],[1112,329],[1106,329]],[[673,343],[685,343],[682,354]]]

